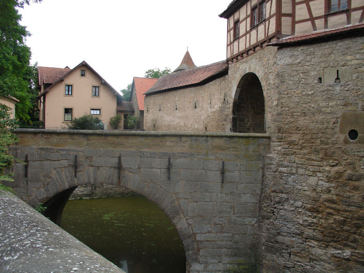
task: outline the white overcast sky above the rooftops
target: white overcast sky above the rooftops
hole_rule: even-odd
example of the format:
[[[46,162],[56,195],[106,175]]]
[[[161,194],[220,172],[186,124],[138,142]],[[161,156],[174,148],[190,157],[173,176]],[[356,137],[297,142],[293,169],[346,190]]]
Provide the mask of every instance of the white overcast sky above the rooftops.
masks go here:
[[[31,63],[75,67],[86,61],[113,88],[151,68],[176,69],[187,50],[197,66],[226,59],[232,0],[43,0],[20,9]]]

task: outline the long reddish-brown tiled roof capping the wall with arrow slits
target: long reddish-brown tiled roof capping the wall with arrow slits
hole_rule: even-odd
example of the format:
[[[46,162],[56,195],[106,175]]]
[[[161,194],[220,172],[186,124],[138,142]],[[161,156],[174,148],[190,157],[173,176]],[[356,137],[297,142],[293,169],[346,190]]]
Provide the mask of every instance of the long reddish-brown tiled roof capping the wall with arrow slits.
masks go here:
[[[195,69],[184,70],[160,77],[157,83],[144,94],[149,95],[169,89],[183,88],[196,84],[203,84],[213,80],[215,76],[228,70],[226,61],[200,66]]]

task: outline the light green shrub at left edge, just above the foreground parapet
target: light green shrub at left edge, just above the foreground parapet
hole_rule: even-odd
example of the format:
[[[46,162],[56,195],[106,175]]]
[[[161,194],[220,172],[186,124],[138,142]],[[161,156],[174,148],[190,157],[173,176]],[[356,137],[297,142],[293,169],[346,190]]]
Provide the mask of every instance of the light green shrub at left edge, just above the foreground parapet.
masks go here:
[[[8,106],[0,104],[0,181],[13,181],[12,174],[5,174],[5,170],[10,169],[15,162],[15,158],[8,153],[8,147],[17,140],[11,133],[15,129],[16,121],[10,119],[10,112]]]

